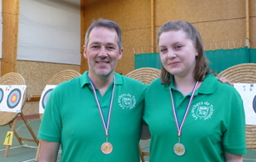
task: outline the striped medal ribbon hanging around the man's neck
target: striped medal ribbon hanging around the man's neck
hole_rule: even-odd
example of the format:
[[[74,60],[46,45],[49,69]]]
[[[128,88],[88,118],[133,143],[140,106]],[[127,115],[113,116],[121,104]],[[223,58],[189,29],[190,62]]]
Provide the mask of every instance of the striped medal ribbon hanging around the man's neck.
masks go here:
[[[89,77],[88,77],[89,78]],[[90,80],[90,78],[89,78]],[[115,77],[113,76],[113,89],[112,89],[112,94],[111,94],[111,99],[110,99],[110,105],[109,105],[109,109],[108,109],[108,121],[107,121],[107,124],[105,122],[105,119],[104,119],[104,116],[103,116],[103,113],[102,113],[102,107],[101,107],[101,104],[100,104],[100,101],[98,99],[98,96],[96,94],[96,88],[95,88],[95,85],[92,83],[92,81],[90,80],[90,84],[91,84],[91,87],[92,87],[92,90],[93,90],[93,93],[94,93],[94,96],[95,96],[95,99],[96,99],[96,103],[97,103],[97,107],[99,109],[99,112],[101,114],[101,118],[102,118],[102,124],[104,126],[104,130],[105,130],[105,135],[108,137],[108,128],[109,128],[109,123],[110,123],[110,117],[111,117],[111,111],[112,111],[112,106],[113,106],[113,93],[114,93],[114,88],[115,88]],[[107,138],[108,139],[108,138]]]

